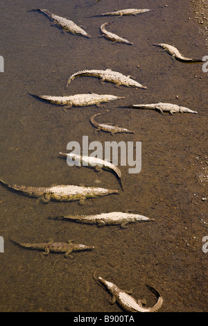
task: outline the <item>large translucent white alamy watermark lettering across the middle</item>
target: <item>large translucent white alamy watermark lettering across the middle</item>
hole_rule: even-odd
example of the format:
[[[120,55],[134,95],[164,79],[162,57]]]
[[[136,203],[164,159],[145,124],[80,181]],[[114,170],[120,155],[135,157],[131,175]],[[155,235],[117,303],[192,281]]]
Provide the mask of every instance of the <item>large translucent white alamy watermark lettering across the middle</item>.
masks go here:
[[[89,143],[88,136],[83,136],[83,150],[78,141],[69,141],[67,150],[71,151],[70,154],[97,157],[98,159],[111,162],[115,166],[119,165],[119,152],[120,152],[120,165],[131,166],[128,169],[129,173],[139,173],[141,171],[141,141],[105,141],[104,145],[100,141],[92,141]],[[89,151],[93,151],[89,154]],[[71,159],[67,156],[67,164],[69,166],[80,166],[81,163]],[[83,162],[83,166],[89,166],[89,162]],[[92,164],[91,164],[92,165]]]

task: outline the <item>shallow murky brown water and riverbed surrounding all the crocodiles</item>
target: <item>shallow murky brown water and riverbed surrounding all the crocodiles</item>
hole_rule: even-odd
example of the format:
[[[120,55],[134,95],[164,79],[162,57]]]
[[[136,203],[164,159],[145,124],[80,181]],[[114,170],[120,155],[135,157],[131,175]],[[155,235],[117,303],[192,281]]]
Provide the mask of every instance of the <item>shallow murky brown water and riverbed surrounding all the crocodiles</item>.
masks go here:
[[[17,185],[92,185],[119,189],[110,172],[96,174],[69,167],[58,153],[69,141],[142,141],[141,173],[121,166],[125,191],[78,203],[37,203],[0,187],[1,311],[121,311],[94,281],[101,275],[135,298],[155,304],[145,284],[164,297],[161,311],[207,311],[207,255],[202,237],[207,230],[207,74],[202,65],[172,60],[155,43],[173,44],[184,55],[206,55],[204,40],[183,1],[1,1],[1,178]],[[167,5],[165,8],[162,6]],[[63,34],[34,8],[46,8],[83,26],[91,39]],[[154,9],[136,17],[90,17],[123,8]],[[109,31],[134,43],[112,44],[100,38],[104,22]],[[139,66],[139,67],[138,67]],[[148,88],[101,85],[96,78],[67,79],[80,69],[110,68],[131,75]],[[95,92],[125,96],[124,100],[63,112],[58,106],[28,95]],[[178,97],[178,98],[177,98]],[[162,115],[150,110],[121,109],[133,103],[170,102],[198,114]],[[99,121],[113,122],[135,134],[96,133],[89,117],[109,110]],[[198,157],[198,158],[196,158]],[[200,173],[205,173],[202,181]],[[100,180],[100,183],[96,183]],[[205,181],[205,182],[204,182]],[[97,228],[49,216],[135,210],[154,223]],[[95,246],[74,252],[73,259],[15,246],[21,242],[67,241]]]

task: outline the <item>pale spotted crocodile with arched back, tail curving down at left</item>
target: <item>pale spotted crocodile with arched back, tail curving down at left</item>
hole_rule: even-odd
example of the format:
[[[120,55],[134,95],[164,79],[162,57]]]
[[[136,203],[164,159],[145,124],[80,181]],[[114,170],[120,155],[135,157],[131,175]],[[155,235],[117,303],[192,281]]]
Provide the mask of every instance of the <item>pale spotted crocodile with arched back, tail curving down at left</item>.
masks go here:
[[[143,88],[146,89],[146,86],[143,86],[139,84],[136,80],[132,79],[131,76],[125,76],[117,71],[112,71],[111,69],[105,69],[105,70],[81,70],[76,72],[75,74],[71,75],[69,77],[69,80],[67,82],[67,86],[69,83],[71,83],[71,80],[74,80],[75,78],[78,78],[80,76],[93,76],[101,78],[101,81],[107,81],[110,83],[114,83],[116,85],[123,85],[126,87],[136,87],[136,88]]]

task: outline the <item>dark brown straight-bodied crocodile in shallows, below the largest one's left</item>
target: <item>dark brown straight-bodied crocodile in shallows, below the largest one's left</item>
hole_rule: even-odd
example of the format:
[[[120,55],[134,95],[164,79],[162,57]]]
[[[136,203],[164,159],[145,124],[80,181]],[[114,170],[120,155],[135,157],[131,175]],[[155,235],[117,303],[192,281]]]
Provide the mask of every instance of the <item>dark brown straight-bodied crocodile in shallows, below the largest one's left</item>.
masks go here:
[[[71,257],[71,252],[73,251],[94,249],[94,246],[85,246],[79,243],[72,243],[73,240],[69,240],[68,243],[54,241],[49,241],[46,243],[19,243],[13,239],[11,239],[11,241],[24,248],[42,250],[44,251],[43,255],[49,255],[50,252],[65,252],[64,256],[66,258]]]

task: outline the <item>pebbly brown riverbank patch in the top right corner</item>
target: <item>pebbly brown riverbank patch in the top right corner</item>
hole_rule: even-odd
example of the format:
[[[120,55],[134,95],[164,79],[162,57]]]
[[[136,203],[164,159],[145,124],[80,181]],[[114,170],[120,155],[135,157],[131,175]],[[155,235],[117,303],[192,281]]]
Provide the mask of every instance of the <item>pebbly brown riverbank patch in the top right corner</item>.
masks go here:
[[[200,24],[200,33],[205,37],[208,46],[208,2],[207,0],[190,0],[193,6],[193,19]]]

